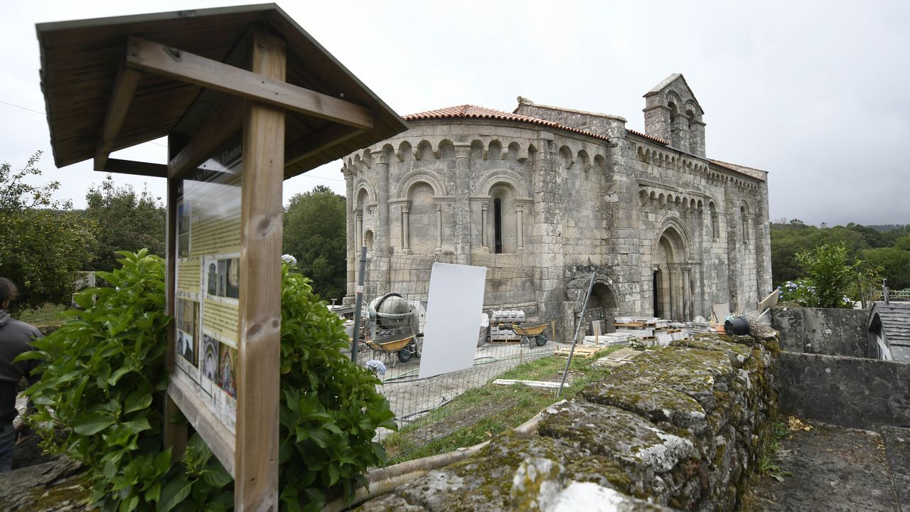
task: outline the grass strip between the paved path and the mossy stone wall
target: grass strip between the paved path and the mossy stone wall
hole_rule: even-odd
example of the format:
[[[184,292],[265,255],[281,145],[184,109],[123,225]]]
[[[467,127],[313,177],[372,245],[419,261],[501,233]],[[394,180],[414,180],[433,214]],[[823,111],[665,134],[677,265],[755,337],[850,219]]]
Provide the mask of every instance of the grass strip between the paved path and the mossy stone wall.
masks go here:
[[[598,356],[602,357],[617,348],[619,347],[610,347],[598,353]],[[587,384],[599,381],[610,373],[607,367],[592,366],[596,360],[596,357],[572,358],[568,381],[571,384],[562,390],[561,398],[571,398]],[[565,365],[564,358],[551,355],[521,364],[497,378],[559,382]],[[403,426],[399,432],[384,438],[382,445],[389,454],[389,465],[444,454],[477,445],[493,435],[515,428],[554,402],[556,391],[552,389],[522,384],[486,384],[461,394],[420,420]],[[436,436],[429,442],[426,436],[420,436],[421,430],[447,431],[447,424],[457,425],[460,422],[470,425],[452,428],[447,434]]]

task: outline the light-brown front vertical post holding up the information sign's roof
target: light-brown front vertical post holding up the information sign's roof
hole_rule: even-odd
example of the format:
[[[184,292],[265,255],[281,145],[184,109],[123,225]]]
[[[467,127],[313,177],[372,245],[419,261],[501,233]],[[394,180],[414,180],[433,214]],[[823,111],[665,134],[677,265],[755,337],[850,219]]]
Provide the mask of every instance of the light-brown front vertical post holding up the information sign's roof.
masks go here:
[[[252,70],[283,81],[284,41],[253,36]],[[243,118],[237,447],[234,507],[278,510],[278,404],[281,354],[281,187],[285,111],[247,102]]]

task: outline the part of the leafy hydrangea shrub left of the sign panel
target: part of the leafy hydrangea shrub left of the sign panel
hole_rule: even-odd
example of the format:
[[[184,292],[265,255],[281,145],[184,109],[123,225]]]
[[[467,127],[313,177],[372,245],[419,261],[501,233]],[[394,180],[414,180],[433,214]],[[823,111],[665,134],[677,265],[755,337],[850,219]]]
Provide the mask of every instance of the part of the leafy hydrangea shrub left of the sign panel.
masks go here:
[[[170,317],[164,261],[146,251],[120,254],[122,268],[97,273],[111,287],[78,293],[84,309],[64,313],[69,320],[23,357],[45,361],[26,391],[45,448],[89,467],[93,503],[130,511],[158,500],[171,469],[161,446]]]

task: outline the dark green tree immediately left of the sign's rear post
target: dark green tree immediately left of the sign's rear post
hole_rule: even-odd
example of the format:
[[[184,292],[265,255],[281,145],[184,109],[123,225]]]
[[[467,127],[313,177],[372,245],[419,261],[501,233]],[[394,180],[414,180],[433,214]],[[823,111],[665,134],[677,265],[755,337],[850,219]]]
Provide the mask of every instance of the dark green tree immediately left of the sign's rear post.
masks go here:
[[[86,204],[85,216],[95,223],[98,241],[90,270],[115,269],[117,251],[147,249],[164,256],[167,210],[147,189],[136,195],[129,185],[116,187],[108,174],[100,186],[88,189]]]

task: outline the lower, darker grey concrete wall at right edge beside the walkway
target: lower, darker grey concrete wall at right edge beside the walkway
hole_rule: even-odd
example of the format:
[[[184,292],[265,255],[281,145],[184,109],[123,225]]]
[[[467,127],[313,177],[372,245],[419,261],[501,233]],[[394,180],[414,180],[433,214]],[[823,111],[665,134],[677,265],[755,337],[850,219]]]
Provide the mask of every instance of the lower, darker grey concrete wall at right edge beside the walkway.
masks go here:
[[[784,413],[851,428],[910,425],[910,363],[781,353]]]

